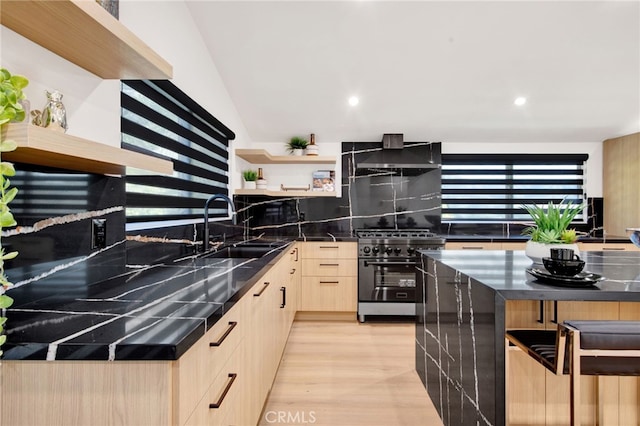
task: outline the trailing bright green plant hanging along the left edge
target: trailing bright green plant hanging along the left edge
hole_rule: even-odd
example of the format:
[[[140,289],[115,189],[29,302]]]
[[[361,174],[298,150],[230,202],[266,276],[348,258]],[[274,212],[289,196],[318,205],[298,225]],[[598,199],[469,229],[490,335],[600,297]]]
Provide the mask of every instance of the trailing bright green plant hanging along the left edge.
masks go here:
[[[4,69],[0,69],[0,310],[13,304],[13,299],[5,294],[5,291],[13,284],[9,282],[4,272],[4,262],[15,258],[18,252],[6,252],[2,247],[2,229],[16,226],[9,203],[15,198],[18,189],[9,182],[9,177],[16,174],[13,164],[2,161],[2,153],[13,151],[17,147],[14,140],[6,138],[7,126],[11,122],[19,122],[25,119],[26,113],[21,101],[25,99],[22,91],[29,84],[29,80],[21,75],[11,75]],[[0,348],[5,343],[7,337],[4,334],[4,324],[7,318],[0,315]],[[0,356],[2,350],[0,349]]]

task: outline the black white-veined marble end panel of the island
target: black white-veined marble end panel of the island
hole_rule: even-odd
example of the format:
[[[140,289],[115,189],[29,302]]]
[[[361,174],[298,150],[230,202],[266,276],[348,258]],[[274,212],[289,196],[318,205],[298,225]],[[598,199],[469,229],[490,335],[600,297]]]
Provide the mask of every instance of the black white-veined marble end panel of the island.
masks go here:
[[[416,371],[433,404],[445,425],[496,424],[494,292],[424,256],[417,275]]]

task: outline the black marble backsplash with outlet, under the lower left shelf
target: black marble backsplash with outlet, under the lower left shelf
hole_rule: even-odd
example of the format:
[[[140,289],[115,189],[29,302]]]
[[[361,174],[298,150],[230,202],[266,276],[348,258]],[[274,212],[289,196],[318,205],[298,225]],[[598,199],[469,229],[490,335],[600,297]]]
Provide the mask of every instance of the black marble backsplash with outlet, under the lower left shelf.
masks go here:
[[[124,266],[123,179],[26,164],[15,168],[11,184],[18,188],[18,195],[10,208],[18,226],[4,230],[2,238],[6,250],[19,252],[5,265],[10,280],[33,279],[34,269],[41,270],[43,265],[64,268],[98,255],[107,268],[87,270],[85,279],[90,282]],[[107,221],[104,249],[92,248],[93,219]]]

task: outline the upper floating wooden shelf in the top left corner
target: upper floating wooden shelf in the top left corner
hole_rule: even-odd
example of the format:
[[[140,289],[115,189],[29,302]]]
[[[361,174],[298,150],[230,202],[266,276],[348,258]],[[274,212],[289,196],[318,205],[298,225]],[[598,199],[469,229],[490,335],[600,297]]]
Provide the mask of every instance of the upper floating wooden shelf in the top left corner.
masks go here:
[[[2,0],[0,23],[104,79],[170,79],[171,64],[95,1]]]

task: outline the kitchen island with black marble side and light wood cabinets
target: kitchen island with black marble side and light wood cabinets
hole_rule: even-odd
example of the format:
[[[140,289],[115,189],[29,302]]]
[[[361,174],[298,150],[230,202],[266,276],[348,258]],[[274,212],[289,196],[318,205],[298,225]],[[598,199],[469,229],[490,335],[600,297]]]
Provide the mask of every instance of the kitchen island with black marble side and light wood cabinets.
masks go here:
[[[445,425],[568,424],[568,377],[508,347],[505,330],[555,328],[565,319],[640,320],[637,252],[583,253],[585,271],[605,279],[578,288],[537,282],[523,251],[421,254],[416,370]],[[637,378],[582,380],[586,424],[638,424]]]

